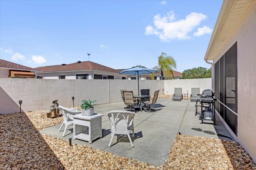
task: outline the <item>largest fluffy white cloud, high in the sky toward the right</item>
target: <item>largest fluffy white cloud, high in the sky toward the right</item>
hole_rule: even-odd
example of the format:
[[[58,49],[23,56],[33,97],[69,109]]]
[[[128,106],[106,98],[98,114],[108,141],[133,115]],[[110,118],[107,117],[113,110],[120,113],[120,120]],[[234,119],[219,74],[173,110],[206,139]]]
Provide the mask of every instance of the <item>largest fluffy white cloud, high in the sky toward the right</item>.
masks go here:
[[[146,35],[156,35],[163,41],[169,40],[189,40],[189,35],[202,20],[207,18],[201,13],[192,12],[186,16],[186,19],[176,20],[173,11],[163,17],[160,14],[154,16],[154,27],[146,27]]]

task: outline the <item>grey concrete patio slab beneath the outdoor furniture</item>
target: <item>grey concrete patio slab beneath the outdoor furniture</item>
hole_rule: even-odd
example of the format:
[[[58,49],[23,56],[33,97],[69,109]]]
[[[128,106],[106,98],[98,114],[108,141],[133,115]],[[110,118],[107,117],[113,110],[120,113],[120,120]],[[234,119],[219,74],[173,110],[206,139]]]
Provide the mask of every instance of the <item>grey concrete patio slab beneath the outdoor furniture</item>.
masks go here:
[[[124,110],[124,103],[109,103],[95,105],[94,112],[104,114],[102,117],[102,138],[98,138],[89,144],[83,140],[73,140],[73,128],[70,126],[66,131],[66,136],[62,137],[62,131],[58,132],[60,125],[48,127],[40,130],[40,133],[50,134],[53,137],[72,138],[75,144],[88,145],[92,148],[105,150],[127,158],[133,158],[141,162],[160,166],[168,158],[170,147],[174,143],[174,139],[178,132],[182,134],[205,136],[211,138],[222,138],[224,140],[233,140],[232,136],[216,118],[217,125],[200,124],[200,120],[195,116],[195,102],[188,100],[171,101],[171,99],[158,99],[152,108],[158,109],[153,113],[137,112],[134,117],[134,132],[135,137],[132,138],[134,148],[131,147],[128,137],[115,136],[112,146],[108,147],[111,138],[111,124],[106,116],[108,111]],[[200,128],[202,130],[193,130],[192,128]],[[208,130],[214,134],[207,134],[204,131]],[[230,137],[220,137],[217,134],[222,134]]]

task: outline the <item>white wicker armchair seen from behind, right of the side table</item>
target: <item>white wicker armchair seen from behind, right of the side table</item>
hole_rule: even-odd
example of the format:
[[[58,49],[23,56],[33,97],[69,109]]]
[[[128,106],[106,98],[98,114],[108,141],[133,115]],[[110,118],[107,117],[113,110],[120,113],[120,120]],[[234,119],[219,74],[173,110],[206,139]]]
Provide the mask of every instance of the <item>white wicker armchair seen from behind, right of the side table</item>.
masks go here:
[[[111,121],[111,140],[108,147],[111,146],[112,140],[115,134],[124,134],[127,135],[132,147],[132,139],[130,132],[132,130],[132,137],[134,137],[134,127],[133,127],[133,118],[135,113],[130,111],[110,111],[108,112],[108,118]]]

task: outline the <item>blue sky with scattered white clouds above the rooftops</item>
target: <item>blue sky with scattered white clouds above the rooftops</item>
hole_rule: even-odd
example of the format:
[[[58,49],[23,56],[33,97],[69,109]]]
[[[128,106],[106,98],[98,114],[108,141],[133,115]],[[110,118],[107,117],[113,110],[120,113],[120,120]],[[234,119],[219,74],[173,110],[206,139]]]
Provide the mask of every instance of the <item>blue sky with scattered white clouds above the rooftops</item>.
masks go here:
[[[0,58],[28,67],[99,63],[153,68],[162,52],[176,71],[207,67],[222,0],[0,1]]]

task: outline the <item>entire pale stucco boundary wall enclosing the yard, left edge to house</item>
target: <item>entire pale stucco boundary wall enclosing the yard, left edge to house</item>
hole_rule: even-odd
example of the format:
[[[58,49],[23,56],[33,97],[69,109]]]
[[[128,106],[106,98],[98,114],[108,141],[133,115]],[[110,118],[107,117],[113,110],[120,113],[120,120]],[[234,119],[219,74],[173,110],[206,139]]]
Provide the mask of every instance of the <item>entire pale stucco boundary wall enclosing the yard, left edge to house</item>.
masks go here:
[[[164,86],[200,87],[200,91],[211,86],[211,79],[181,79],[181,80],[140,80],[140,89],[150,89],[150,95]],[[22,100],[24,111],[48,109],[52,101],[58,99],[60,105],[80,105],[84,99],[94,99],[98,104],[122,101],[120,89],[132,90],[138,94],[137,80],[67,80],[67,79],[0,79],[0,113],[19,111],[18,101]],[[190,93],[189,91],[189,93]],[[165,91],[164,91],[165,93]],[[18,107],[17,107],[18,106]]]

